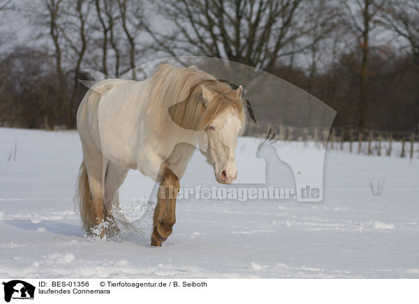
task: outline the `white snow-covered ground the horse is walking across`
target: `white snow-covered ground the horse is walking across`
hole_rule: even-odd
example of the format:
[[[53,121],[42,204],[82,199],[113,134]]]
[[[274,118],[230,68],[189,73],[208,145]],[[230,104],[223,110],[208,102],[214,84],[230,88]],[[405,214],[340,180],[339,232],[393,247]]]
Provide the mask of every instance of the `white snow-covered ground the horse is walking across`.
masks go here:
[[[240,139],[239,182],[263,176],[259,143]],[[75,131],[0,128],[0,278],[419,278],[418,159],[330,151],[320,203],[179,199],[161,248],[148,234],[84,236],[73,208],[81,159]],[[385,180],[381,195],[369,180]],[[199,153],[181,183],[196,181],[216,185]],[[144,212],[153,184],[130,172],[122,204]]]

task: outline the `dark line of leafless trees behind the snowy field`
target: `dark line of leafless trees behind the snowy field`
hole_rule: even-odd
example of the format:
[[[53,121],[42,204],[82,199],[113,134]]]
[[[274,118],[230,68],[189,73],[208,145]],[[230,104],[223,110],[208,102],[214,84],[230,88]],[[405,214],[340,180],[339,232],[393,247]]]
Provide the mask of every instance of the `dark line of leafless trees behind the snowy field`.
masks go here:
[[[300,86],[335,126],[418,128],[419,0],[0,0],[16,18],[34,35],[0,24],[0,126],[75,128],[84,69],[140,79],[140,63],[196,55]]]

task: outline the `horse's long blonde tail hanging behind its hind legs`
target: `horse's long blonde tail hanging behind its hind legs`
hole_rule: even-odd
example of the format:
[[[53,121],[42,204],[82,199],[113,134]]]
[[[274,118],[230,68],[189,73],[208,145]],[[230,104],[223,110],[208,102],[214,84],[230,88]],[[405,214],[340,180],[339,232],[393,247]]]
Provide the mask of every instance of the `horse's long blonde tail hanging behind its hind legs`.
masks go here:
[[[82,218],[83,228],[88,234],[90,234],[96,225],[96,220],[91,212],[92,199],[90,194],[89,177],[87,176],[87,169],[84,162],[80,165],[74,202],[75,208],[78,208],[80,217]]]

